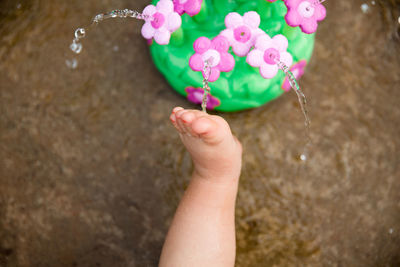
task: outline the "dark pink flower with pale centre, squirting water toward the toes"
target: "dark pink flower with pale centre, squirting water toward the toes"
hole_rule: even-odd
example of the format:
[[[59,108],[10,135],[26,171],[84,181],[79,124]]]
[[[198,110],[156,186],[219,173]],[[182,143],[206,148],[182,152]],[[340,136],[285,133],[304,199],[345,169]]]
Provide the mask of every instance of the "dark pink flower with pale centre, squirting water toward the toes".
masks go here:
[[[203,77],[204,64],[209,62],[211,73],[208,81],[215,82],[218,80],[220,72],[228,72],[235,66],[235,59],[228,53],[229,42],[228,40],[218,35],[212,41],[207,37],[199,37],[193,44],[196,53],[190,57],[189,66],[194,71],[201,71]]]

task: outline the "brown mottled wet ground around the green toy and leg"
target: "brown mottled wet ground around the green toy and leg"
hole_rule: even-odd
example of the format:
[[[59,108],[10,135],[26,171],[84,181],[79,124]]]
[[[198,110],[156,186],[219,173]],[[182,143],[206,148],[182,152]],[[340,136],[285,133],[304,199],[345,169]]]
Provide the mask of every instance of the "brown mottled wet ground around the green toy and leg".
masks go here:
[[[95,14],[146,3],[0,2],[0,266],[156,266],[192,170],[169,112],[194,106],[139,21],[68,47]],[[293,92],[222,114],[244,146],[237,266],[400,265],[399,1],[371,3],[324,3],[300,80],[307,164]]]

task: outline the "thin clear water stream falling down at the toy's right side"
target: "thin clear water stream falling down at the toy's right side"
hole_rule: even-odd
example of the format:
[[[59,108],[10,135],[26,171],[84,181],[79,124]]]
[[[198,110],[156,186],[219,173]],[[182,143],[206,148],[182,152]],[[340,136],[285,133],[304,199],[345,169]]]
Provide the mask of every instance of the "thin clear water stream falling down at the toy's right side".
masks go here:
[[[294,77],[293,73],[289,70],[289,67],[286,66],[285,63],[277,60],[277,66],[279,69],[281,69],[286,77],[289,80],[289,84],[292,87],[293,91],[296,93],[297,98],[300,103],[301,111],[303,112],[304,115],[304,125],[306,128],[306,138],[307,138],[307,143],[304,146],[303,153],[300,155],[300,160],[306,161],[308,158],[308,149],[309,146],[311,145],[311,135],[310,135],[310,125],[311,121],[310,118],[308,117],[308,111],[307,111],[307,99],[306,96],[304,95],[303,91],[301,91],[299,84],[296,81],[296,77]]]

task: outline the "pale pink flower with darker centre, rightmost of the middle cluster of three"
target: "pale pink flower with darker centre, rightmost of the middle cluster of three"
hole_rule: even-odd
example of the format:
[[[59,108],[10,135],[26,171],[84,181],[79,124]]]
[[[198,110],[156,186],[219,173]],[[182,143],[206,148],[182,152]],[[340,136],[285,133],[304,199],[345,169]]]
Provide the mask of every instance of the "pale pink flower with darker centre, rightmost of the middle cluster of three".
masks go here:
[[[247,55],[246,61],[253,67],[260,68],[260,74],[265,79],[271,79],[278,73],[277,62],[286,66],[292,65],[292,56],[286,52],[288,40],[282,34],[271,39],[268,34],[261,35],[256,40],[255,48]]]

